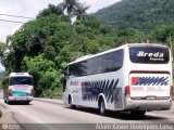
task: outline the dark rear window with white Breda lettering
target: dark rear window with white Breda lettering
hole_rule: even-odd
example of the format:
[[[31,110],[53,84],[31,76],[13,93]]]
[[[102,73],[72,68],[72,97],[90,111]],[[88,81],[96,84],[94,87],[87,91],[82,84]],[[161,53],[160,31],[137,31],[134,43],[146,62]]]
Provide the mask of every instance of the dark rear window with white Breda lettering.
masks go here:
[[[169,49],[164,47],[130,47],[129,58],[133,63],[166,64],[170,54]]]

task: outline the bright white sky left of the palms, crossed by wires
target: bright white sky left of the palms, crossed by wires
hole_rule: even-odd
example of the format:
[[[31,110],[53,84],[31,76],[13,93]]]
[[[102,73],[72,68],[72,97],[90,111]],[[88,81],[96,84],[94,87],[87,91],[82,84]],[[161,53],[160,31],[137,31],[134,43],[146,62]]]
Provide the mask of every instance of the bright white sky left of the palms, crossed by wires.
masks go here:
[[[60,1],[61,2],[61,1]],[[28,17],[36,17],[36,15],[49,3],[59,4],[58,0],[0,0],[0,14],[12,14]],[[0,20],[27,22],[26,18],[16,18],[0,15]],[[20,23],[10,23],[0,21],[0,41],[5,41],[8,35],[12,35],[13,30],[21,26]]]

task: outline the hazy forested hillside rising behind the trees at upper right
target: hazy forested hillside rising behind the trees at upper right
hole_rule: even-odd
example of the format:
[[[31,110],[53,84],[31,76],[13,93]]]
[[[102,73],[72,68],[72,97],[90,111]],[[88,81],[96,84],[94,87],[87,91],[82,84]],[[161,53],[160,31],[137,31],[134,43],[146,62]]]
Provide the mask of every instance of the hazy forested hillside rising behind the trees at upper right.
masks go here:
[[[122,0],[95,16],[115,29],[133,27],[147,34],[174,22],[173,6],[174,0]]]

